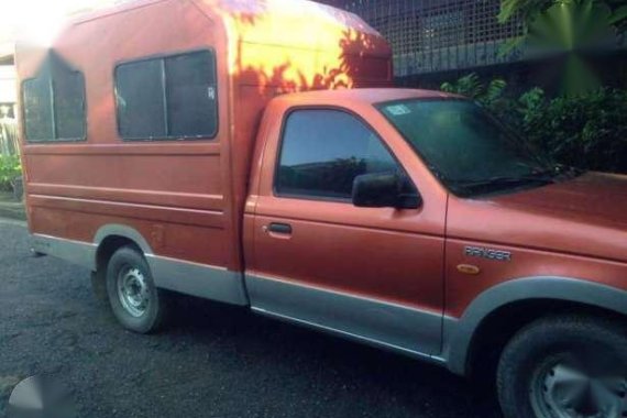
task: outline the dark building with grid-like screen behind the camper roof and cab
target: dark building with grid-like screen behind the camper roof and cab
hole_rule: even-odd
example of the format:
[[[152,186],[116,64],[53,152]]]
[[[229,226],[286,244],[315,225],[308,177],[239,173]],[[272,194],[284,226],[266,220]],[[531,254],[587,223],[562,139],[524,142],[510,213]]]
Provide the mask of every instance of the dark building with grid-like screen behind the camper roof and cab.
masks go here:
[[[513,85],[542,85],[542,66],[529,48],[504,54],[522,33],[519,21],[497,21],[499,0],[320,0],[362,16],[392,44],[400,84],[439,86],[469,73]],[[627,42],[617,40],[623,51]],[[617,50],[618,51],[618,50]]]

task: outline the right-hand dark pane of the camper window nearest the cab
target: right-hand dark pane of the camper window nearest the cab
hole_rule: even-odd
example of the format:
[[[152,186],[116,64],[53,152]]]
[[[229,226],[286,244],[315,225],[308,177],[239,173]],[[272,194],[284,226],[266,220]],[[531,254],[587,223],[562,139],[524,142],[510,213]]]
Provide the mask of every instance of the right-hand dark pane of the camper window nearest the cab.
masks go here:
[[[169,134],[213,136],[218,128],[213,56],[209,52],[180,55],[165,65]]]

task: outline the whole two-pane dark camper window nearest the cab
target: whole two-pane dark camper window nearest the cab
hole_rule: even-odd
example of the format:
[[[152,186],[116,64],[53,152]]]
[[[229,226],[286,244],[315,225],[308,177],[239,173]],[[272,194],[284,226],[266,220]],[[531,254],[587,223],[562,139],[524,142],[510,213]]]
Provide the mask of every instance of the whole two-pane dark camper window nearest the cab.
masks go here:
[[[216,61],[209,51],[120,65],[116,94],[120,134],[127,140],[217,133]]]

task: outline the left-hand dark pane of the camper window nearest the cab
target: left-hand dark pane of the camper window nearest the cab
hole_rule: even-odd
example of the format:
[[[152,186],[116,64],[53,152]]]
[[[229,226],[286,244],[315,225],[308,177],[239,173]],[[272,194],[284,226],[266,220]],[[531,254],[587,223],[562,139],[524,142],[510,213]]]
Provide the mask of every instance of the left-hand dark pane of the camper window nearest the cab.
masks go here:
[[[163,61],[124,64],[116,74],[120,133],[128,139],[167,136]]]

